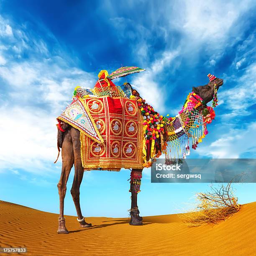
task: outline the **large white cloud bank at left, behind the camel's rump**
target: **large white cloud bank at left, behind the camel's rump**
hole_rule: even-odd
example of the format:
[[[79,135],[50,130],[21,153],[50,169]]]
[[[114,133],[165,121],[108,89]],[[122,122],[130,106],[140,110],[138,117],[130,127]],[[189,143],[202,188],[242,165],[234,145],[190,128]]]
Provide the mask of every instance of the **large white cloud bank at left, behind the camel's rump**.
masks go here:
[[[10,35],[10,28],[3,24],[6,22],[0,18],[0,33]],[[56,54],[61,53],[60,46],[51,53],[37,35],[26,34],[14,25],[11,31],[9,45],[0,45],[6,56],[0,58],[1,86],[8,88],[5,95],[0,95],[0,169],[46,175],[52,172],[57,155],[56,117],[71,102],[74,87],[92,86],[96,76],[72,67],[69,59]],[[27,41],[37,44],[38,50],[34,51]],[[10,54],[13,50],[18,54],[28,51],[30,57],[26,61],[15,58]]]

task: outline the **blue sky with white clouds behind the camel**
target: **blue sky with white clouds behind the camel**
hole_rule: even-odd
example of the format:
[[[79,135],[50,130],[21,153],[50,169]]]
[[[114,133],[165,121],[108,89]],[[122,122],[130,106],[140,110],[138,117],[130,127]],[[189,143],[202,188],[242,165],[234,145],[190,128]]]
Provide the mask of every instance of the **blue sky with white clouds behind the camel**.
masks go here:
[[[255,1],[73,2],[0,1],[1,200],[58,212],[55,118],[74,87],[92,87],[101,69],[121,65],[146,68],[127,79],[163,115],[176,115],[208,73],[223,78],[216,120],[190,157],[256,157]],[[127,170],[86,172],[83,214],[127,216],[128,178]],[[142,215],[180,212],[207,188],[151,184],[145,170],[139,207]],[[256,184],[236,188],[241,203],[255,201]]]

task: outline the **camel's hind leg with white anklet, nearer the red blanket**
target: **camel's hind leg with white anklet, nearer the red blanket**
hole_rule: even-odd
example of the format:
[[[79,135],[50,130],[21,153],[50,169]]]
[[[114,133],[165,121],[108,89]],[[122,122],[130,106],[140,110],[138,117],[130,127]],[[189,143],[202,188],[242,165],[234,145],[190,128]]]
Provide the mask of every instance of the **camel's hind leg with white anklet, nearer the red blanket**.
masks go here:
[[[77,129],[71,128],[70,134],[72,137],[73,148],[74,148],[74,181],[71,188],[71,195],[73,197],[74,205],[77,210],[77,217],[81,228],[90,228],[91,223],[87,223],[81,212],[80,207],[80,185],[84,176],[84,168],[81,161],[81,143],[80,143],[80,132]]]

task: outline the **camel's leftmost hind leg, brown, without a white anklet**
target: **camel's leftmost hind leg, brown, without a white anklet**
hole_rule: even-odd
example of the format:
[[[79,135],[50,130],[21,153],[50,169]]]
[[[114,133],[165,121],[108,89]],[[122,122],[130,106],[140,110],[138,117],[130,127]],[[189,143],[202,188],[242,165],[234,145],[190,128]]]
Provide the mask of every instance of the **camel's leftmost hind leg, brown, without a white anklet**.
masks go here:
[[[63,134],[63,143],[62,143],[62,169],[61,169],[61,177],[59,179],[59,183],[57,185],[59,189],[59,228],[58,233],[67,234],[69,231],[65,226],[65,218],[64,218],[64,198],[67,190],[67,180],[69,178],[70,170],[74,164],[74,151],[72,145],[72,139],[69,134],[69,131],[66,131]]]

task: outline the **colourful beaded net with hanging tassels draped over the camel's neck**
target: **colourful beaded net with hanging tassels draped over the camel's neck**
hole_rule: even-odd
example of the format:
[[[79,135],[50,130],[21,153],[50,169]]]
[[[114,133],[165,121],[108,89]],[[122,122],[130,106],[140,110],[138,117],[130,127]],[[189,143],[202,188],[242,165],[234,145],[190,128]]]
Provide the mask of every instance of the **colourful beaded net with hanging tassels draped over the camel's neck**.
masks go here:
[[[178,115],[168,118],[164,125],[164,140],[167,142],[164,153],[167,163],[175,159],[185,159],[190,154],[189,141],[192,140],[193,149],[196,149],[197,145],[202,142],[202,139],[208,134],[207,124],[215,118],[213,108],[218,105],[217,102],[217,85],[214,84],[211,107],[208,107],[200,96],[191,92]]]

